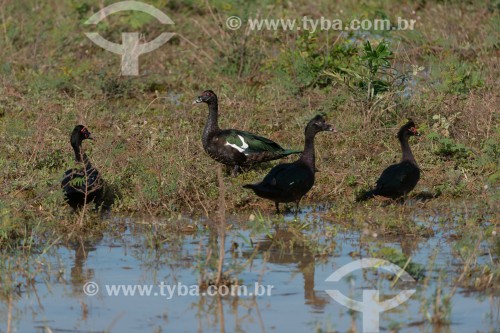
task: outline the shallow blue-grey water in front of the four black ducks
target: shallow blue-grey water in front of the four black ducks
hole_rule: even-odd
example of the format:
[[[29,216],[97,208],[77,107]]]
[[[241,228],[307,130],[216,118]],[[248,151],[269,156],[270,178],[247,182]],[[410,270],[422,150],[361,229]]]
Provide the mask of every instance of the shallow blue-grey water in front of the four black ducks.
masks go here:
[[[326,290],[359,302],[367,301],[364,290],[378,290],[381,301],[415,290],[407,302],[380,313],[380,331],[498,332],[498,295],[463,288],[445,310],[451,325],[429,324],[433,297],[438,290],[450,293],[463,265],[456,247],[465,245],[439,230],[430,238],[389,240],[334,230],[314,219],[290,232],[285,226],[292,217],[286,220],[279,228],[262,228],[255,221],[229,219],[224,270],[252,295],[209,296],[197,286],[202,273],[217,269],[219,245],[206,222],[186,221],[194,226],[191,232],[174,233],[160,226],[167,222],[151,228],[158,221],[112,219],[109,232],[33,255],[41,272],[30,287],[1,301],[0,331],[362,332],[363,314],[340,305]],[[491,260],[484,255],[487,246],[479,245],[477,261]],[[427,279],[405,282],[372,268],[326,281],[340,267],[382,248],[411,256]],[[127,286],[136,288],[134,296],[132,289],[128,296],[124,289],[110,289]],[[145,288],[142,295],[139,286]]]

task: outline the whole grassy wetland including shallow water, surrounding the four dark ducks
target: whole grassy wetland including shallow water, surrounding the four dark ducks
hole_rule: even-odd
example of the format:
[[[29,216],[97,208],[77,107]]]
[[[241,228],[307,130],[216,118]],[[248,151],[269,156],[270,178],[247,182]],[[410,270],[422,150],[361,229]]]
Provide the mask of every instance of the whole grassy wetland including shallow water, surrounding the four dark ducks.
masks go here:
[[[367,256],[418,281],[418,296],[384,315],[384,330],[498,329],[497,1],[148,3],[175,25],[124,12],[91,27],[117,43],[130,29],[146,40],[176,33],[140,57],[137,77],[121,76],[120,57],[85,37],[83,23],[107,1],[0,3],[0,331],[355,331],[360,315],[334,305],[324,280]],[[417,23],[411,31],[229,30],[233,15]],[[232,178],[206,155],[207,110],[191,104],[206,89],[219,96],[221,127],[286,148],[301,149],[317,114],[334,125],[335,135],[317,138],[319,170],[297,218],[242,189],[280,162]],[[355,203],[399,161],[395,133],[408,118],[421,133],[411,141],[418,185],[404,204]],[[73,213],[64,202],[77,124],[95,137],[85,142],[92,165],[119,189],[109,212]],[[89,298],[88,281],[259,281],[276,296],[174,306]],[[199,322],[186,323],[186,313]]]

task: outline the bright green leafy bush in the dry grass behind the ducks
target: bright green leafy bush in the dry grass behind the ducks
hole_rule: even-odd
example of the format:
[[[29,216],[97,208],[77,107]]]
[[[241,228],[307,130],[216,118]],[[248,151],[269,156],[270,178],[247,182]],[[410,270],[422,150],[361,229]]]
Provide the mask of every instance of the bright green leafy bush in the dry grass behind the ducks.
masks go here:
[[[294,49],[278,59],[278,78],[297,91],[334,82],[347,84],[356,98],[371,102],[394,84],[392,57],[386,41],[374,46],[368,40],[359,44],[346,39],[328,47],[316,33],[306,32],[299,35]]]

